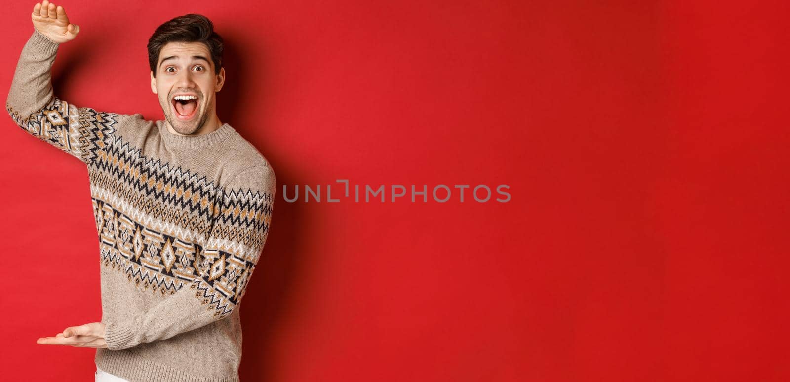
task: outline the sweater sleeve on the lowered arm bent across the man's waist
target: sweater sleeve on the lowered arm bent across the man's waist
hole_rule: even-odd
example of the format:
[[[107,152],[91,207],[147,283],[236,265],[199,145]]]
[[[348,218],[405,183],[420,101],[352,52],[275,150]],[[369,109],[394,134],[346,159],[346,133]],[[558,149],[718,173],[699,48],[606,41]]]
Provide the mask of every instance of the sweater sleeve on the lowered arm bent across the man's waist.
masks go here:
[[[105,322],[109,350],[169,339],[221,320],[233,312],[250,282],[269,234],[276,178],[272,167],[247,167],[224,187],[198,275],[150,309]]]

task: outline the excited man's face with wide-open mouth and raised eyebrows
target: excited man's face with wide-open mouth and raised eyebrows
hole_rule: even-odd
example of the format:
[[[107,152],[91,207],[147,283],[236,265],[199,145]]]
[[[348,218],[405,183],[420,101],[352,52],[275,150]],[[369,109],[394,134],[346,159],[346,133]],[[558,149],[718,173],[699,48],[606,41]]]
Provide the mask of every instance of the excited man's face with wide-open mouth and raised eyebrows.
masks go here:
[[[156,77],[151,72],[151,91],[159,97],[164,118],[173,129],[190,135],[200,132],[216,114],[214,93],[220,91],[224,79],[224,68],[214,73],[204,43],[167,43],[159,54]]]

